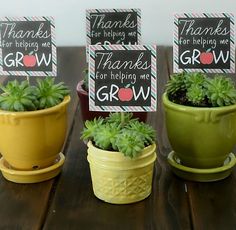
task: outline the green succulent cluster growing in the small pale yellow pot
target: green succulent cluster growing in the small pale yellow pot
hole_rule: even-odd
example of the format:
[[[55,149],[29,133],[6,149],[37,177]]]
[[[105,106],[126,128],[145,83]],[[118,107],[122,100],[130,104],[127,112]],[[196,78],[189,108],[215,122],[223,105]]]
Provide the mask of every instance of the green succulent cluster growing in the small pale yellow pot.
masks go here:
[[[148,124],[132,119],[131,113],[111,113],[107,118],[86,121],[81,138],[93,141],[101,149],[118,150],[133,158],[154,143],[155,131]]]

